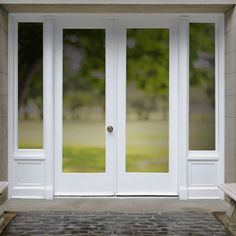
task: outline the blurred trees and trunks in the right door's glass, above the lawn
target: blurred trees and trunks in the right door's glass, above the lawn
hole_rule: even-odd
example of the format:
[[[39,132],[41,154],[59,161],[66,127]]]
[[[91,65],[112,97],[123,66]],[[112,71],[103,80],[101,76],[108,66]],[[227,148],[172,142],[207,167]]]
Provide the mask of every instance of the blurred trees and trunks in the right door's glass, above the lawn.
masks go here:
[[[169,94],[169,30],[127,29],[127,118],[139,120],[163,112]]]

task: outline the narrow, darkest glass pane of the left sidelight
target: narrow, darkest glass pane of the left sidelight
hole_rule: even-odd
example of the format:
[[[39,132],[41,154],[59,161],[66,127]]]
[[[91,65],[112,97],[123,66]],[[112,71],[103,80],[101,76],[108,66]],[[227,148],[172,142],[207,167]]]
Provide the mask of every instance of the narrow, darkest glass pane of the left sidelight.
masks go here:
[[[18,24],[18,147],[43,148],[43,24]]]

